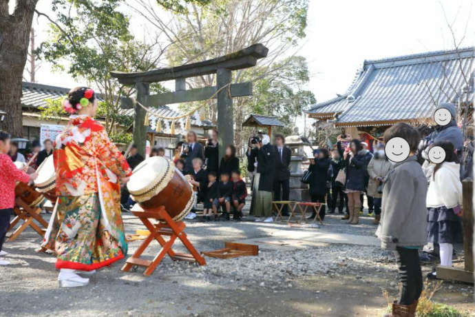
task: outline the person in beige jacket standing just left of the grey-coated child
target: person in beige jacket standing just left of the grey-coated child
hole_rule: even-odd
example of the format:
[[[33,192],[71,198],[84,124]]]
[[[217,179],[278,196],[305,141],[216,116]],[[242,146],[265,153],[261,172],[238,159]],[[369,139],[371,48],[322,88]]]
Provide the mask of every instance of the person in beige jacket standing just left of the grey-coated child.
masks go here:
[[[381,219],[381,200],[383,197],[383,185],[392,168],[392,164],[384,154],[384,145],[377,145],[370,163],[368,163],[368,197],[373,198],[374,204],[374,225],[379,224]]]

